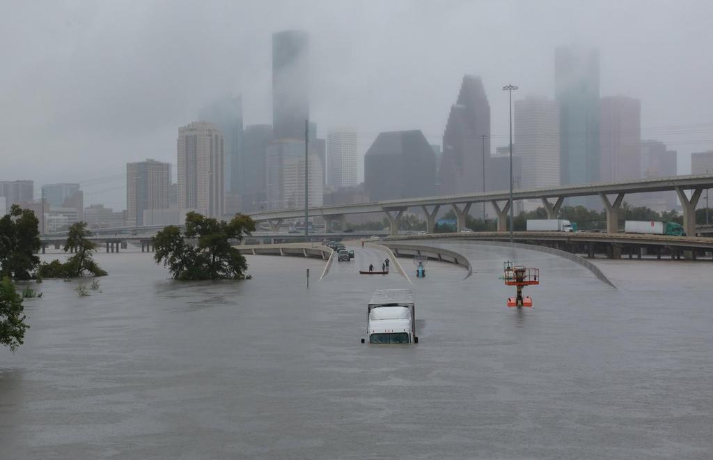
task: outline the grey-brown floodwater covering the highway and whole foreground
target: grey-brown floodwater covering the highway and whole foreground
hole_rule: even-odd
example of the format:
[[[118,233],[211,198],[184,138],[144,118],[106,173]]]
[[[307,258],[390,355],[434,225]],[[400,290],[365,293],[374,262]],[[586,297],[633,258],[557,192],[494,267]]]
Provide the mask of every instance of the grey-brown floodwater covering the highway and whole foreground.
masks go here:
[[[712,263],[602,263],[614,289],[554,255],[449,247],[471,277],[401,259],[406,346],[359,342],[374,289],[411,286],[394,262],[358,274],[379,250],[323,280],[321,260],[249,257],[242,282],[100,253],[100,290],[43,282],[25,344],[0,349],[0,459],[712,456]],[[532,310],[506,307],[508,259],[541,270]]]

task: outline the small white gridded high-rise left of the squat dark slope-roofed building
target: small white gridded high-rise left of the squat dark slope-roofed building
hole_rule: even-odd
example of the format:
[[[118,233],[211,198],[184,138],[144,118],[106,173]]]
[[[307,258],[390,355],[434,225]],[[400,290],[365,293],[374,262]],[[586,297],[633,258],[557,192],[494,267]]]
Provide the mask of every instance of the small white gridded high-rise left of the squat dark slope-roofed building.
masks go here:
[[[334,188],[357,184],[358,137],[352,129],[333,128],[327,133],[327,183]]]

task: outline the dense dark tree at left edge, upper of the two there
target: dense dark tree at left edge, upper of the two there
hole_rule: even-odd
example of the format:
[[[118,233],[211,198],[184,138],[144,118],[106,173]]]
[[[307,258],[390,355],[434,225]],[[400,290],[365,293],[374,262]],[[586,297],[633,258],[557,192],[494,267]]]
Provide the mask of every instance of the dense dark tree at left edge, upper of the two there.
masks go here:
[[[39,220],[34,211],[12,205],[9,214],[0,218],[0,277],[29,280],[30,272],[39,265]]]

